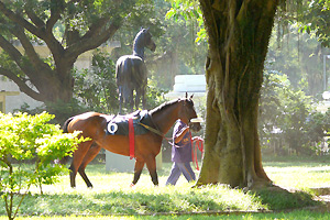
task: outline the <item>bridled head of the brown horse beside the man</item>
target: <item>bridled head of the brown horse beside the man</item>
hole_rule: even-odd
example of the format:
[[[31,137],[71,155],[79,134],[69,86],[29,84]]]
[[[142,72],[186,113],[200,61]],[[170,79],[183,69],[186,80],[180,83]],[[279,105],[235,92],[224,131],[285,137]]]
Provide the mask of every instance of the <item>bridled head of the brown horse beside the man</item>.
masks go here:
[[[186,98],[180,99],[179,102],[182,102],[182,108],[178,113],[179,119],[186,124],[189,124],[191,131],[198,132],[201,129],[200,122],[190,121],[191,119],[197,118],[193,96],[190,96],[190,98],[187,98],[186,96]]]

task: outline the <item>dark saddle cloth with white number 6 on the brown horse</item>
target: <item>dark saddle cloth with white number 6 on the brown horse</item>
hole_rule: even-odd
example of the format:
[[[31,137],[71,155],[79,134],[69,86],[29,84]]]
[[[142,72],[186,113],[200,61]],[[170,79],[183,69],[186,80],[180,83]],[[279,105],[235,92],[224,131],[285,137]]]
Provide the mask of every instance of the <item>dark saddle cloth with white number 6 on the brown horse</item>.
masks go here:
[[[152,127],[153,122],[147,110],[138,110],[127,116],[109,116],[107,117],[106,133],[108,135],[129,135],[129,119],[133,119],[133,128],[135,135],[142,135],[150,130],[141,125],[141,123]]]

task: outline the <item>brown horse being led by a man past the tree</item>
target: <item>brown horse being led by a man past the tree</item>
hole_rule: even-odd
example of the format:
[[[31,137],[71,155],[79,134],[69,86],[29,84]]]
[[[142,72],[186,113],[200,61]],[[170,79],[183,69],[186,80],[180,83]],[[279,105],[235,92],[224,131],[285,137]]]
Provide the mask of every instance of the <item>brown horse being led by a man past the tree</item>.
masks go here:
[[[135,135],[135,166],[132,185],[140,178],[144,164],[150,172],[154,185],[158,185],[155,157],[161,151],[164,134],[180,119],[189,124],[193,131],[201,129],[200,123],[190,123],[197,118],[194,102],[190,98],[165,102],[148,112],[152,118],[152,129],[145,134]],[[129,156],[130,143],[127,135],[108,135],[106,133],[107,116],[97,112],[87,112],[68,119],[64,124],[65,132],[81,131],[81,135],[90,141],[80,143],[74,152],[70,169],[70,185],[76,187],[76,175],[79,172],[88,187],[92,187],[85,168],[103,147],[110,152]]]

